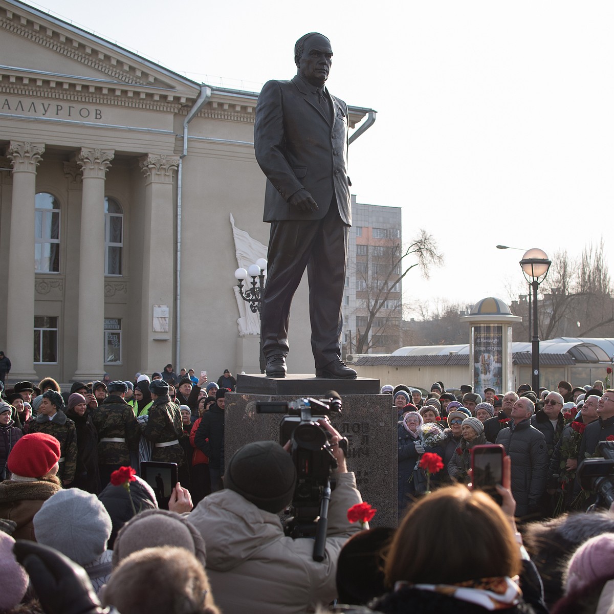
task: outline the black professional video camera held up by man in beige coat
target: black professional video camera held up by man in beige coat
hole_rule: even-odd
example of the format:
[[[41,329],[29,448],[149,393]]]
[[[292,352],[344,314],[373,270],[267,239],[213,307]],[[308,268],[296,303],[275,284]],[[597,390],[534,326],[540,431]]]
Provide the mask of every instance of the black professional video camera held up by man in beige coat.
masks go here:
[[[290,441],[290,454],[297,469],[297,485],[290,503],[290,518],[284,523],[286,535],[315,537],[314,561],[324,560],[328,525],[331,476],[337,461],[330,445],[330,432],[318,424],[321,418],[341,414],[341,397],[331,391],[327,398],[298,398],[290,403],[256,402],[257,413],[285,414],[279,424],[279,443]],[[339,446],[348,454],[348,440]],[[317,522],[316,522],[317,519]]]

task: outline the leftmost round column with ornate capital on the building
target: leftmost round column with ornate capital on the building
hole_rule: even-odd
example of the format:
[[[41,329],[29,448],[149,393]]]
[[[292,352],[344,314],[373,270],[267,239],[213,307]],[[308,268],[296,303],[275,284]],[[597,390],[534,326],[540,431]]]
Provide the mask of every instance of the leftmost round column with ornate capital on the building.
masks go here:
[[[10,381],[38,379],[34,371],[34,203],[36,166],[44,151],[44,143],[11,141],[6,152],[13,165],[4,350],[12,364]]]

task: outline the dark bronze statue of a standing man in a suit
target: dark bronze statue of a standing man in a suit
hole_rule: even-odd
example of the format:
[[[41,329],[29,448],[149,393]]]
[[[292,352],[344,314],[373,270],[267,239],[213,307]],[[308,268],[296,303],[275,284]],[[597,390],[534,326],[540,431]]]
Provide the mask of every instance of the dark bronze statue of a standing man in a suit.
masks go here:
[[[348,106],[324,84],[333,50],[322,34],[301,36],[298,74],[269,81],[256,105],[254,147],[266,175],[264,221],[271,223],[261,311],[266,375],[286,376],[290,303],[305,267],[316,376],[355,379],[341,362],[348,228]]]

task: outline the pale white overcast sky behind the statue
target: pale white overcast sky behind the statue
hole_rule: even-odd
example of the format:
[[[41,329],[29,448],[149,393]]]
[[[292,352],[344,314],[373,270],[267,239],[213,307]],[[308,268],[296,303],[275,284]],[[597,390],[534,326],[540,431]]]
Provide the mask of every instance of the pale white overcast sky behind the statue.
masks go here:
[[[352,193],[402,207],[404,241],[425,228],[445,257],[429,281],[409,274],[411,301],[507,301],[526,292],[522,252],[496,244],[580,254],[612,227],[611,0],[30,4],[251,91],[295,74],[302,34],[328,36],[329,90],[378,112],[350,147]],[[614,243],[606,253],[611,264]]]

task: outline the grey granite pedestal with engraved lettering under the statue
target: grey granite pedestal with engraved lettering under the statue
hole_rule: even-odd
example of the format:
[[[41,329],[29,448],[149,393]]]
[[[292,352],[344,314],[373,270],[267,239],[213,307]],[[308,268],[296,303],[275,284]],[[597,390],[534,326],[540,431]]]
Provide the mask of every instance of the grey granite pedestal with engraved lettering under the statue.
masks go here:
[[[262,380],[264,382],[254,380]],[[268,380],[268,381],[267,381]],[[361,381],[364,380],[364,381]],[[277,384],[274,384],[274,383]],[[352,394],[352,385],[375,389],[376,394]],[[258,394],[252,386],[277,386],[286,394]],[[285,388],[284,388],[285,387]],[[297,392],[287,392],[288,389]],[[239,376],[237,392],[225,397],[225,458],[251,441],[279,441],[282,414],[260,414],[256,402],[289,402],[298,397],[321,398],[336,390],[343,411],[332,418],[333,426],[349,440],[348,470],[356,474],[364,501],[377,508],[371,526],[397,526],[397,412],[391,396],[379,393],[379,381],[333,380],[293,376],[286,379]],[[300,391],[300,392],[299,392]]]

